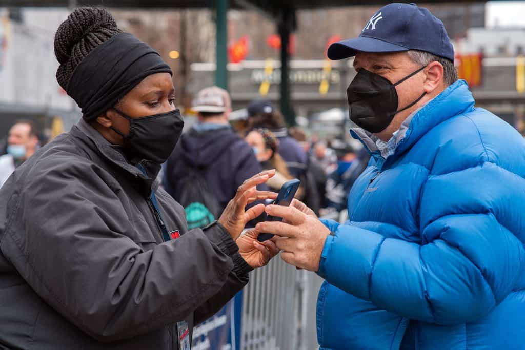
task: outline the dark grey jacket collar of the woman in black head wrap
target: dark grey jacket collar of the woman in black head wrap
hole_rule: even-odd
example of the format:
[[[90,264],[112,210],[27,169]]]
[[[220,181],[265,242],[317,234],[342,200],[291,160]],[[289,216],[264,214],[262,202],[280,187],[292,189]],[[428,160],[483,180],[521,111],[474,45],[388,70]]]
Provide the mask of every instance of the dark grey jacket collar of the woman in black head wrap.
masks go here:
[[[71,134],[79,137],[82,140],[88,139],[91,141],[92,146],[102,155],[103,158],[122,169],[125,173],[128,173],[135,179],[140,179],[141,182],[148,187],[148,194],[151,189],[156,189],[159,186],[155,182],[156,176],[159,174],[161,166],[149,161],[142,160],[138,165],[142,165],[145,169],[146,174],[137,168],[137,166],[131,164],[120,150],[120,146],[109,143],[102,135],[95,130],[85,120],[80,121],[73,126]],[[91,146],[91,145],[90,145]]]

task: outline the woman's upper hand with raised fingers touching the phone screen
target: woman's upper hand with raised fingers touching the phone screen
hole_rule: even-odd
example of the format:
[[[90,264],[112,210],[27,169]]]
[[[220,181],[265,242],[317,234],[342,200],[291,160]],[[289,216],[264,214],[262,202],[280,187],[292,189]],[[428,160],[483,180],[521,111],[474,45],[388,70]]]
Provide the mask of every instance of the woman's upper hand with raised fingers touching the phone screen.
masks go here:
[[[258,191],[257,185],[264,184],[270,177],[275,175],[275,169],[261,172],[247,179],[237,189],[235,197],[229,201],[223,214],[217,220],[223,225],[230,236],[236,240],[240,232],[244,230],[246,223],[264,213],[264,204],[258,204],[245,211],[246,205],[256,200],[276,199],[277,193],[269,191]]]

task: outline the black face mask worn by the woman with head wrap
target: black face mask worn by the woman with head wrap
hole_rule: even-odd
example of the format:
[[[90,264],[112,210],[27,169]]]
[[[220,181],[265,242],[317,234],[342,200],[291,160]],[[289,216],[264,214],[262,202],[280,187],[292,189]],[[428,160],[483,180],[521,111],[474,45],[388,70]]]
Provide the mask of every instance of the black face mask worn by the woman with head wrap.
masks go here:
[[[167,160],[177,145],[184,127],[184,120],[178,109],[140,118],[131,118],[116,108],[113,110],[130,122],[128,135],[111,126],[114,132],[124,138],[124,149],[130,155],[156,164],[162,164]]]

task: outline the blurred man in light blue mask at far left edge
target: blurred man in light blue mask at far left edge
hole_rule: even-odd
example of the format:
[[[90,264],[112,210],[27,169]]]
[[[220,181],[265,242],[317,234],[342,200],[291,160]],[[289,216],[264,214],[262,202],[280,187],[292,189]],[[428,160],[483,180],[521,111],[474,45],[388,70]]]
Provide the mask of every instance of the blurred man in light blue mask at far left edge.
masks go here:
[[[30,120],[19,120],[9,130],[6,154],[0,156],[0,187],[38,147],[35,124]]]

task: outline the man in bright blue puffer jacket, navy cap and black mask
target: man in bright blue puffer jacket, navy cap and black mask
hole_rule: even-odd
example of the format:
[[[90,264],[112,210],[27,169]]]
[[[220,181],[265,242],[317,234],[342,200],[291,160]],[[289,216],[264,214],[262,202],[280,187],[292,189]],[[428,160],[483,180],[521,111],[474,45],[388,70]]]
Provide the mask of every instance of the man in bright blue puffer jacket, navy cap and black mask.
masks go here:
[[[295,201],[263,222],[282,259],[317,271],[321,349],[525,349],[525,142],[474,107],[439,19],[390,4],[359,38],[352,135],[372,155],[350,221]]]

